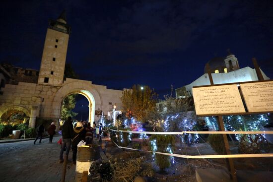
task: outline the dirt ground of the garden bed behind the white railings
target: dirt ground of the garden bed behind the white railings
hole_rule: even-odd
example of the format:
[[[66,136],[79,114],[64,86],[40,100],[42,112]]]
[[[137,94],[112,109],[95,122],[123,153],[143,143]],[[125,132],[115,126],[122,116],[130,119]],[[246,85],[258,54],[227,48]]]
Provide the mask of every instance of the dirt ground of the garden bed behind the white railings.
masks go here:
[[[134,142],[142,143],[141,139],[134,139]],[[231,153],[238,153],[238,146],[230,144]],[[104,142],[104,151],[107,156],[123,157],[124,159],[136,157],[136,151],[120,149],[110,140]],[[129,147],[132,144],[129,145]],[[273,150],[273,146],[271,146]],[[142,146],[141,150],[149,150],[148,146]],[[273,152],[271,150],[271,153]],[[213,155],[215,151],[208,143],[197,143],[187,146],[185,144],[176,143],[176,154],[186,155]],[[197,182],[196,169],[223,169],[228,172],[225,164],[225,159],[184,159],[174,157],[174,164],[167,168],[164,173],[159,171],[152,159],[152,154],[147,152],[139,152],[139,156],[144,156],[145,163],[152,165],[154,175],[151,178],[146,178],[148,182]],[[236,170],[251,170],[251,171],[273,171],[273,158],[238,158],[233,159]]]

